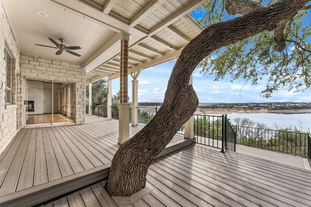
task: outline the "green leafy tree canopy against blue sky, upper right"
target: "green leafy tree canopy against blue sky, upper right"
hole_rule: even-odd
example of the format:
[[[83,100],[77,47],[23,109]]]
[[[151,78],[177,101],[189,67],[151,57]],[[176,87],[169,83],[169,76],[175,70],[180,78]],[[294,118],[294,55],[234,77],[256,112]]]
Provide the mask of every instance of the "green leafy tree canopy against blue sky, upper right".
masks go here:
[[[268,6],[276,0],[254,0]],[[310,9],[310,5],[308,6]],[[282,88],[293,92],[311,87],[311,21],[308,9],[302,9],[290,19],[284,29],[286,48],[276,51],[275,35],[261,32],[235,44],[220,48],[199,64],[201,73],[215,75],[215,80],[230,75],[245,83],[265,82],[261,96],[270,97]],[[198,21],[205,28],[233,18],[225,12],[225,0],[208,0],[195,12],[204,15]],[[239,16],[239,15],[236,15]]]

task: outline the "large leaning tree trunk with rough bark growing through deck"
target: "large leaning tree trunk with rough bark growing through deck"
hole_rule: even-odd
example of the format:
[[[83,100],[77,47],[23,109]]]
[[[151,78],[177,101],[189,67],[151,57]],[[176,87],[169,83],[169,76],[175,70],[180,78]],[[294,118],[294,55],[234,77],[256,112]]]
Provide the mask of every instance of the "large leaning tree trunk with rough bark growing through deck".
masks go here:
[[[144,187],[149,165],[198,105],[189,80],[196,66],[208,54],[259,32],[272,31],[280,20],[294,16],[308,2],[280,0],[269,8],[259,8],[242,17],[214,24],[194,38],[184,48],[173,68],[158,113],[132,139],[123,143],[115,154],[108,178],[108,193],[129,196]]]

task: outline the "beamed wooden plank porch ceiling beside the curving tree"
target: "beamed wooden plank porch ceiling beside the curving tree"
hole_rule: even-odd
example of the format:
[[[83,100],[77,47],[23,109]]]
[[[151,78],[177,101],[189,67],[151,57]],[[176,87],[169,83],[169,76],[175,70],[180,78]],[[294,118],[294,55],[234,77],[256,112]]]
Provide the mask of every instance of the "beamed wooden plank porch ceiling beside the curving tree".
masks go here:
[[[182,49],[203,31],[189,13],[206,0],[78,1],[129,28],[129,72],[176,59]],[[112,42],[112,45],[119,45],[120,50],[120,39]],[[103,64],[86,71],[87,82],[119,77],[120,51],[110,52],[108,56]]]

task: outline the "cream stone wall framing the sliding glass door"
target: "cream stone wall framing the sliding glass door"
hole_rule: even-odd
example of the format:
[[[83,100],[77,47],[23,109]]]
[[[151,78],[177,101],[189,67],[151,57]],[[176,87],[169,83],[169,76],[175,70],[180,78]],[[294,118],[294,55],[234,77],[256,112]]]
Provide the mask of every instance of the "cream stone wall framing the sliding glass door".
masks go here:
[[[36,80],[56,80],[75,83],[75,123],[85,123],[85,84],[86,73],[81,64],[52,60],[33,55],[20,55],[20,90],[17,102],[17,127],[23,126],[23,81],[24,78]]]

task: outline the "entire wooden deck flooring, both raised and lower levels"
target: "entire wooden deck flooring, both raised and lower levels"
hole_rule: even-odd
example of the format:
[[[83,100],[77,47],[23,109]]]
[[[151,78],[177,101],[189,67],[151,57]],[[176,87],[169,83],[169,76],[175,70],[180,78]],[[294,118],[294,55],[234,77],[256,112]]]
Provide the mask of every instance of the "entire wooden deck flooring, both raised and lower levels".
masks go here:
[[[130,127],[130,136],[141,128]],[[118,122],[94,116],[84,125],[19,130],[0,156],[0,207],[36,205],[92,183],[46,206],[117,205],[102,181],[117,140]],[[190,144],[175,151],[176,144],[192,142],[184,141],[175,135],[154,161],[147,176],[152,191],[133,206],[311,206],[311,171],[297,167],[290,155],[277,153],[287,160],[278,163],[270,154],[253,157],[265,150],[252,149],[252,156],[245,155],[250,150],[224,154]]]

